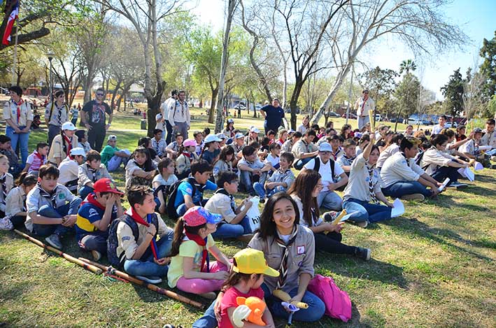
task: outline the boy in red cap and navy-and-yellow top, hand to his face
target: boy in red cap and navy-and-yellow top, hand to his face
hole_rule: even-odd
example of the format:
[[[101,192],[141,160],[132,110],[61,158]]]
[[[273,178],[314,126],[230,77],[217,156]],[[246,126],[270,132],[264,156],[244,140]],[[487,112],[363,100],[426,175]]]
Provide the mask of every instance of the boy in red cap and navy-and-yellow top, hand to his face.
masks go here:
[[[108,226],[112,220],[124,214],[120,196],[109,178],[99,179],[93,185],[94,192],[86,197],[78,211],[76,237],[83,250],[89,250],[95,261],[106,254]]]

